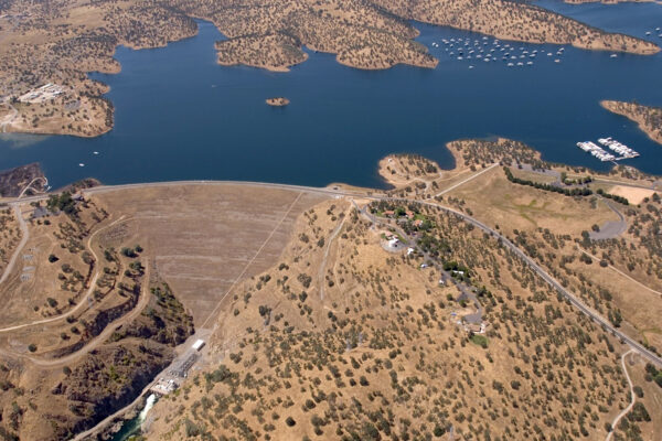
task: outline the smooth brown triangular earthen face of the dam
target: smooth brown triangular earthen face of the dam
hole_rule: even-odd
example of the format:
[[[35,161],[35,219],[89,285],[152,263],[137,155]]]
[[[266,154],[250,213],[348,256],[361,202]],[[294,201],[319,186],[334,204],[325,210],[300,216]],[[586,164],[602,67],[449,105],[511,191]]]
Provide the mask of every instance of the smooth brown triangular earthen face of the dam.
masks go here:
[[[280,255],[296,216],[324,198],[231,184],[117,191],[97,197],[110,212],[124,211],[130,219],[125,235],[153,250],[159,272],[192,310],[196,325],[244,267],[250,263],[245,277],[267,268]]]

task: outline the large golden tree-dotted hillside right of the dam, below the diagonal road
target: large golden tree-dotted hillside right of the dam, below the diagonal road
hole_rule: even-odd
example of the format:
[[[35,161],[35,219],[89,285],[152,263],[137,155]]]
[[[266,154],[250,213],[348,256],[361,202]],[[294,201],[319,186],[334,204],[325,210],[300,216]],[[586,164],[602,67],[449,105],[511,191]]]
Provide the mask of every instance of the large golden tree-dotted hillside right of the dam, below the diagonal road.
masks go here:
[[[401,208],[409,256],[385,248]],[[629,402],[618,341],[457,217],[370,211],[299,217],[278,262],[233,290],[206,367],[157,404],[147,439],[605,438]]]

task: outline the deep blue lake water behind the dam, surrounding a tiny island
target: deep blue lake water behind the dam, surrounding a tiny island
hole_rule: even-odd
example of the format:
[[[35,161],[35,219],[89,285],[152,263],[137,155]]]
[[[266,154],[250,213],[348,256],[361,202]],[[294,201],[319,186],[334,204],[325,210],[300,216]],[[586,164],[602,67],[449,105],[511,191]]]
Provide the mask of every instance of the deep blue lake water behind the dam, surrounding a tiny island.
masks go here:
[[[660,4],[537,4],[662,44],[654,32],[662,26]],[[114,130],[95,139],[4,136],[0,170],[39,161],[54,187],[86,176],[107,184],[213,179],[383,186],[376,164],[385,154],[416,152],[451,168],[444,146],[459,138],[509,137],[547,160],[606,170],[611,164],[576,142],[612,136],[641,153],[624,163],[662,174],[662,146],[599,106],[600,99],[662,106],[661,54],[612,58],[566,45],[556,55],[562,46],[511,43],[517,58],[508,67],[492,37],[415,25],[418,41],[440,60],[435,69],[366,72],[320,53],[285,74],[223,67],[214,51],[223,36],[206,22],[196,36],[164,49],[120,47],[122,72],[93,75],[111,87]],[[457,45],[449,49],[442,39],[462,39],[462,46],[470,39],[472,58],[450,56]],[[483,47],[481,58],[477,47]],[[500,56],[484,62],[491,49]],[[520,58],[523,51],[528,54]],[[271,96],[291,104],[271,108],[265,104]]]

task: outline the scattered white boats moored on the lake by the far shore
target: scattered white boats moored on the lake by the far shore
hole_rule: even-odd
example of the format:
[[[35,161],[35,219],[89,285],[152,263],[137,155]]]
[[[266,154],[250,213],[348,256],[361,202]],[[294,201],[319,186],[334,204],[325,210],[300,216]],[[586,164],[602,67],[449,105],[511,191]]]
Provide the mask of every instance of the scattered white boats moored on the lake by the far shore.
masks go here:
[[[444,47],[448,56],[458,61],[482,61],[483,63],[503,62],[508,67],[533,66],[538,56],[547,56],[555,63],[560,63],[565,49],[559,47],[556,52],[543,52],[538,50],[528,50],[524,46],[516,46],[499,40],[490,41],[489,37],[470,39],[453,37],[441,39],[441,44],[433,42],[433,47]],[[470,65],[469,68],[473,68]]]

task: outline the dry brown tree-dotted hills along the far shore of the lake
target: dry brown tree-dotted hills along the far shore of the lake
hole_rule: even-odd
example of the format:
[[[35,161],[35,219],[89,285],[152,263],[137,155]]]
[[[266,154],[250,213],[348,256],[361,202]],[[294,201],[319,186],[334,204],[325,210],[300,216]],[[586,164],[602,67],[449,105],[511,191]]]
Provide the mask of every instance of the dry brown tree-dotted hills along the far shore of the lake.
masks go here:
[[[410,20],[499,39],[653,54],[659,47],[606,33],[524,2],[505,0],[226,1],[73,0],[0,6],[0,130],[96,137],[114,125],[106,85],[89,72],[118,73],[118,45],[164,46],[196,34],[195,19],[226,36],[223,65],[285,72],[307,60],[302,47],[363,69],[397,64],[433,68],[438,61],[414,39]]]

